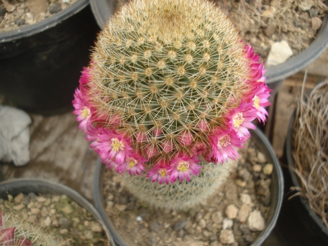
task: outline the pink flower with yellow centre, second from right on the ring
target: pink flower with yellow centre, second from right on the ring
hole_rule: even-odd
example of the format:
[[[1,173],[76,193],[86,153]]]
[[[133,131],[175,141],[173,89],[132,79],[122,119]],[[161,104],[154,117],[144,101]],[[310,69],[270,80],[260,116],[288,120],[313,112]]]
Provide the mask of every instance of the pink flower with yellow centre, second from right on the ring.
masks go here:
[[[253,107],[253,103],[243,103],[241,101],[238,108],[233,109],[227,114],[227,125],[229,129],[234,130],[239,137],[247,136],[251,134],[249,129],[255,129],[256,127],[251,123],[256,118],[257,110]]]

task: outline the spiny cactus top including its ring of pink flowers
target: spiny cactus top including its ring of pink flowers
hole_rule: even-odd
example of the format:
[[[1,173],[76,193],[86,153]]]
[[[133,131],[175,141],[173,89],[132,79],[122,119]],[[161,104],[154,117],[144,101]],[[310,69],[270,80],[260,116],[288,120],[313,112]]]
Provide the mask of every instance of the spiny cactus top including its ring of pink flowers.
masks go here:
[[[108,168],[172,183],[237,148],[265,122],[264,67],[229,18],[202,0],[136,0],[98,36],[73,100]]]

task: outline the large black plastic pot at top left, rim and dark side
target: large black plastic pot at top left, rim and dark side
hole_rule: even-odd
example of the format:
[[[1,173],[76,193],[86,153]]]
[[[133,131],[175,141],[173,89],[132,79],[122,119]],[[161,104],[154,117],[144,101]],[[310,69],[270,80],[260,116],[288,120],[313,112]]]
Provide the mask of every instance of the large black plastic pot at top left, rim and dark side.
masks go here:
[[[72,109],[98,31],[89,1],[78,0],[36,24],[0,32],[0,93],[31,112]]]

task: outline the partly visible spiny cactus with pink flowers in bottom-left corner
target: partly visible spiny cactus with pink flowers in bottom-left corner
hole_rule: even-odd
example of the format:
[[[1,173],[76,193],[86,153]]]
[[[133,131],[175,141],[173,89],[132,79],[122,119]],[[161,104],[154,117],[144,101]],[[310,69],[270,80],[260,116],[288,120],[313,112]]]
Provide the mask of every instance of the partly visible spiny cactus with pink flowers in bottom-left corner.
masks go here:
[[[57,246],[59,243],[52,235],[18,221],[12,216],[3,216],[0,211],[0,245],[3,246]]]

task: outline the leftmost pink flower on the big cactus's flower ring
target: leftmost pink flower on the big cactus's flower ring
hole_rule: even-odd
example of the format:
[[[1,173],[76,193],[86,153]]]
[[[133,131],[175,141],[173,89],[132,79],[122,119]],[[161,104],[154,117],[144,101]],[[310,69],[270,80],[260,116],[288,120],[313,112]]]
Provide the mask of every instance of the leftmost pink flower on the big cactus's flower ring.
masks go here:
[[[91,108],[86,102],[86,95],[84,95],[79,89],[75,90],[74,100],[72,101],[75,110],[73,114],[77,115],[76,120],[79,121],[79,129],[84,132],[91,124]]]

